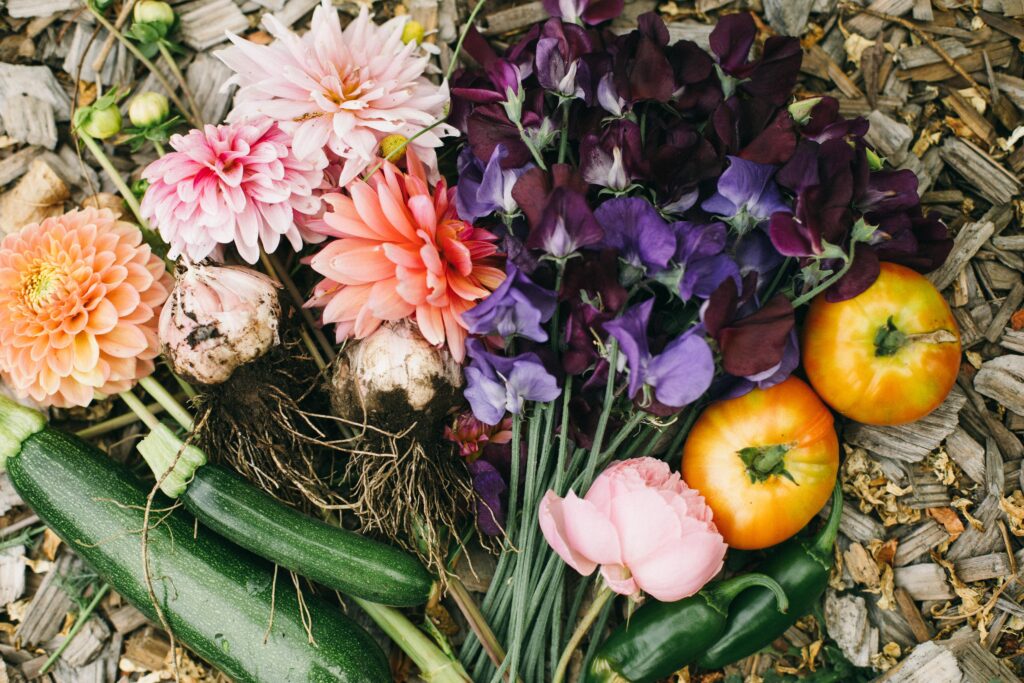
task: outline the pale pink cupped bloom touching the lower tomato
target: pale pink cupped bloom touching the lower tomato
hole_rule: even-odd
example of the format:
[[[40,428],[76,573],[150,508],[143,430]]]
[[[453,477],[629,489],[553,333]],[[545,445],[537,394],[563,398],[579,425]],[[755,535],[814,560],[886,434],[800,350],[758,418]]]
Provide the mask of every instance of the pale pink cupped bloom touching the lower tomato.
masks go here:
[[[654,458],[612,464],[583,499],[549,490],[540,522],[569,566],[589,575],[600,564],[608,587],[622,595],[681,600],[711,581],[725,558],[703,498]]]

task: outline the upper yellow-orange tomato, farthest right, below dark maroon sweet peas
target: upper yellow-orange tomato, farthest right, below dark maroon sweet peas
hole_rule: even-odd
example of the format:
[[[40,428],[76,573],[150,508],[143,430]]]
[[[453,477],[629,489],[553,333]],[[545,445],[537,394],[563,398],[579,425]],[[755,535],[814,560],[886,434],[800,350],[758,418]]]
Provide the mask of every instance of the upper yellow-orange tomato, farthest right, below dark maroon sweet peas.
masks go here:
[[[949,305],[921,273],[883,263],[860,295],[811,302],[804,369],[837,412],[869,425],[920,420],[956,381],[959,332]]]

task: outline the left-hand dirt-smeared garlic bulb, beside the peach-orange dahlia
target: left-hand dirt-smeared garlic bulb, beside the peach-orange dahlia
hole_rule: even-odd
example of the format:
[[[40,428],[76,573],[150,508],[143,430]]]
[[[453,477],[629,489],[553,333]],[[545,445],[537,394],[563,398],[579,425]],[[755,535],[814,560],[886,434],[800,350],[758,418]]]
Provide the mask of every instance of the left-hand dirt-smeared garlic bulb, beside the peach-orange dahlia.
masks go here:
[[[160,343],[174,372],[220,384],[276,346],[280,288],[243,266],[179,266],[160,313]]]

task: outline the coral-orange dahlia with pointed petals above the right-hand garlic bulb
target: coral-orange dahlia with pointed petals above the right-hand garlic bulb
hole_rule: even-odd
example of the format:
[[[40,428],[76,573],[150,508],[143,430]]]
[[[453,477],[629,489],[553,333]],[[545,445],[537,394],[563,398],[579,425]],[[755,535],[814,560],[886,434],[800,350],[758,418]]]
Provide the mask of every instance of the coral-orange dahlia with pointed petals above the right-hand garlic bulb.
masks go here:
[[[447,342],[465,356],[462,314],[505,279],[490,232],[460,220],[455,189],[439,181],[431,195],[414,154],[409,173],[385,163],[370,182],[332,193],[324,215],[332,240],[310,259],[326,278],[307,306],[324,308],[338,341],[362,339],[383,321],[415,317],[431,344]]]

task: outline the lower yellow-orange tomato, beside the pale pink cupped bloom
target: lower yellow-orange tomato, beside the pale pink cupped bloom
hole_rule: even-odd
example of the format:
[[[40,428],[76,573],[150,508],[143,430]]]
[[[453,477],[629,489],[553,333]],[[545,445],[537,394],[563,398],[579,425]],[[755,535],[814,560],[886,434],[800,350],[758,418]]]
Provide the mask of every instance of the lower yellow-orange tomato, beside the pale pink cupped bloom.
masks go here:
[[[712,403],[683,446],[683,479],[705,497],[725,542],[744,550],[806,526],[838,472],[831,412],[796,377]]]

